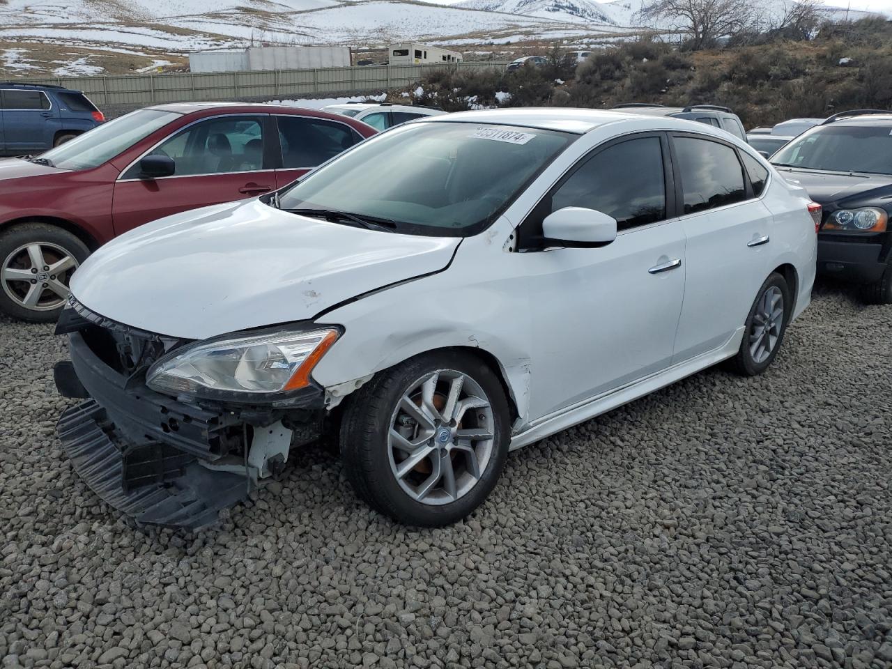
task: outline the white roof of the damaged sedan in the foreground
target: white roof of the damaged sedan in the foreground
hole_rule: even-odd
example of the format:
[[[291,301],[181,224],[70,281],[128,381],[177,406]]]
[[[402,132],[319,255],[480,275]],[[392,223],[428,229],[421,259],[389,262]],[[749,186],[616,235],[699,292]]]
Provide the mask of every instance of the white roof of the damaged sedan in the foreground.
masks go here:
[[[487,109],[480,111],[458,111],[454,114],[426,117],[412,123],[489,123],[502,126],[519,126],[523,128],[539,128],[542,130],[560,130],[583,135],[594,128],[620,121],[640,121],[642,114],[625,110],[573,109],[568,107],[518,107],[511,109]],[[714,135],[727,139],[731,136],[721,128],[698,123],[695,120],[676,119],[661,116],[655,120],[654,129],[677,129]]]

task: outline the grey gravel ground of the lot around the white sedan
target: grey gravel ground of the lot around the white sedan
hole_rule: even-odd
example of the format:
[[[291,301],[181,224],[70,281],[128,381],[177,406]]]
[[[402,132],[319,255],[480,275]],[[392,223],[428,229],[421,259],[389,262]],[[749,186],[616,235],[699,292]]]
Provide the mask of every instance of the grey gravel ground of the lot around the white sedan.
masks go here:
[[[508,459],[409,531],[301,452],[222,526],[73,474],[50,326],[0,322],[4,667],[892,665],[892,308],[819,285],[767,374],[707,370]]]

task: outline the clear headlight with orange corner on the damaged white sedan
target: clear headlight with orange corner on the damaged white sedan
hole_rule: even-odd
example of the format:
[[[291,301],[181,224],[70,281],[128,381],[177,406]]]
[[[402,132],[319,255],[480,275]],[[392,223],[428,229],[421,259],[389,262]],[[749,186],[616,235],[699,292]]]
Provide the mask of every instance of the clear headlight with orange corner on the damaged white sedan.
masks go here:
[[[149,369],[160,392],[283,392],[310,384],[310,372],[338,338],[334,328],[278,332],[203,343]]]

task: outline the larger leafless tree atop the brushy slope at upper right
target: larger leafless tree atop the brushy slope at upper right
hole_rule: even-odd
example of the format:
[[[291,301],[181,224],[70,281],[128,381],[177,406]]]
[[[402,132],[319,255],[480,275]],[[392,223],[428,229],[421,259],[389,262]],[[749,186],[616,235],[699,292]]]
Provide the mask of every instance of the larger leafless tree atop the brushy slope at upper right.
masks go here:
[[[688,36],[690,48],[703,49],[719,37],[734,37],[761,25],[752,5],[739,0],[657,0],[642,13],[669,22]]]

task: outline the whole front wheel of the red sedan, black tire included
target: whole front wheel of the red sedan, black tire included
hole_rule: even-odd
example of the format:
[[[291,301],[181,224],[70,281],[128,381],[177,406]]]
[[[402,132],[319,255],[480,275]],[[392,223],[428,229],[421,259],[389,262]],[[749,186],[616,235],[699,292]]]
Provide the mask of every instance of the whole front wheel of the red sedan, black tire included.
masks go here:
[[[71,273],[90,250],[61,227],[23,223],[0,234],[0,311],[32,323],[54,323],[65,306]]]

